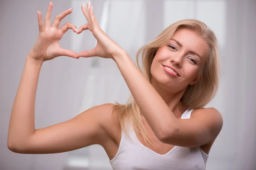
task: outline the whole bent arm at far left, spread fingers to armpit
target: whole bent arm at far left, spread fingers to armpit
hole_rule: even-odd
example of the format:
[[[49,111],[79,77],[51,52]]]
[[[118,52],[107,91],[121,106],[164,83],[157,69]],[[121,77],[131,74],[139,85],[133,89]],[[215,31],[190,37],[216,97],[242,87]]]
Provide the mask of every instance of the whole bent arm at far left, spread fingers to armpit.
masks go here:
[[[76,27],[70,23],[58,28],[61,19],[72,9],[58,15],[50,26],[52,6],[50,3],[44,23],[38,11],[39,37],[26,57],[13,103],[7,145],[16,153],[59,153],[102,144],[106,134],[103,124],[111,115],[112,104],[105,104],[84,111],[67,122],[35,130],[35,95],[43,62],[62,55],[77,58],[75,52],[58,45],[68,29],[76,32]]]

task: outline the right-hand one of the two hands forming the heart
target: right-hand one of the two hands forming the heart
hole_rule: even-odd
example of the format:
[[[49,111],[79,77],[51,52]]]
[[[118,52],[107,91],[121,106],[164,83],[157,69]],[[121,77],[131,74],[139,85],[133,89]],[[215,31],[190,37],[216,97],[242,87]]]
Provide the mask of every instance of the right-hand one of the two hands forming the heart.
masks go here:
[[[84,4],[81,6],[84,16],[86,17],[88,23],[80,26],[77,31],[77,34],[80,34],[82,31],[89,29],[93,36],[97,39],[97,45],[90,51],[82,51],[77,56],[78,57],[102,57],[102,58],[112,58],[122,54],[124,50],[116,44],[107,34],[99,27],[99,24],[96,20],[96,17],[93,13],[93,7],[87,3],[87,9]]]

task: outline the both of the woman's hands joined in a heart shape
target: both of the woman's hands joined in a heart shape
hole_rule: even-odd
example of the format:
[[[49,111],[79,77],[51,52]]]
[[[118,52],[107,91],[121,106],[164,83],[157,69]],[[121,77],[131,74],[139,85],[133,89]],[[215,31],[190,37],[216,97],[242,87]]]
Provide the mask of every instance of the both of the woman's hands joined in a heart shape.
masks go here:
[[[114,55],[118,55],[120,52],[124,51],[99,27],[99,24],[93,13],[93,6],[91,6],[90,1],[87,3],[88,10],[84,4],[81,6],[83,14],[86,17],[88,23],[80,26],[78,30],[75,25],[69,22],[58,28],[61,20],[68,14],[71,14],[73,8],[62,12],[57,17],[55,17],[52,26],[50,26],[52,7],[53,3],[50,2],[44,22],[42,20],[41,12],[38,11],[39,37],[30,53],[34,59],[46,61],[54,59],[58,56],[68,56],[76,59],[79,59],[79,57],[95,56],[102,58],[113,58]],[[90,30],[97,40],[96,47],[89,51],[81,51],[78,54],[74,51],[61,48],[59,45],[59,40],[61,40],[61,37],[63,37],[64,33],[67,32],[68,29],[72,29],[74,32],[76,32],[76,34],[80,34],[82,31],[87,29]]]

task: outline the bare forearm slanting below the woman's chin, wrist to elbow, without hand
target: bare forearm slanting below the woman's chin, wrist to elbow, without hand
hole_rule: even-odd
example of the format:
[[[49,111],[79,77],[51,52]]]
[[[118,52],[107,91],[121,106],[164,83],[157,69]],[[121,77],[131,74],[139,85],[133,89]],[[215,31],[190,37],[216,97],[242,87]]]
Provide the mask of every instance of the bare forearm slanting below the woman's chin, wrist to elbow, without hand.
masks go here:
[[[162,138],[166,130],[175,129],[177,118],[128,54],[123,53],[113,59],[153,132]]]

